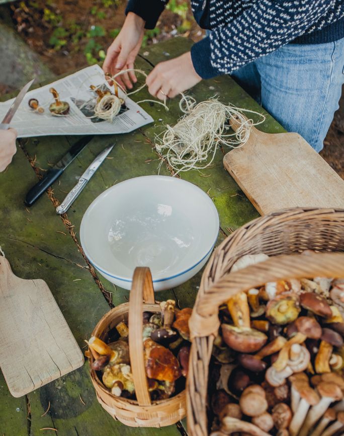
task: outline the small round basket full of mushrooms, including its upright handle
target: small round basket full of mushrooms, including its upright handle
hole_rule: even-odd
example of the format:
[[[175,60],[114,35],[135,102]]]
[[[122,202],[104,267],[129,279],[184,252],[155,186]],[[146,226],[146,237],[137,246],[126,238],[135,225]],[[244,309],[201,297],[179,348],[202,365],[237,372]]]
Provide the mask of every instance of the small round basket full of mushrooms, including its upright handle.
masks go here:
[[[129,304],[106,314],[88,340],[92,382],[114,417],[155,427],[184,417],[191,312],[155,303],[149,268],[136,268]]]

